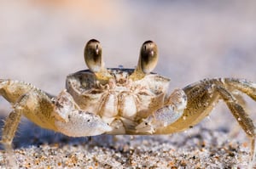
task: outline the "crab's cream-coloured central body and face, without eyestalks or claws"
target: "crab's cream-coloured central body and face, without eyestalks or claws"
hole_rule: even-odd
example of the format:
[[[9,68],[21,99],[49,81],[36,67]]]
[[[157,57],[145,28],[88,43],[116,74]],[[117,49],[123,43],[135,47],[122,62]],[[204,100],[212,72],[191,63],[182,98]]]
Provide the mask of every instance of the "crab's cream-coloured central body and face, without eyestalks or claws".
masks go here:
[[[133,69],[108,69],[111,77],[99,80],[90,70],[67,76],[67,92],[81,110],[100,115],[117,130],[133,133],[138,123],[165,101],[170,80],[150,73],[140,80],[130,78]]]

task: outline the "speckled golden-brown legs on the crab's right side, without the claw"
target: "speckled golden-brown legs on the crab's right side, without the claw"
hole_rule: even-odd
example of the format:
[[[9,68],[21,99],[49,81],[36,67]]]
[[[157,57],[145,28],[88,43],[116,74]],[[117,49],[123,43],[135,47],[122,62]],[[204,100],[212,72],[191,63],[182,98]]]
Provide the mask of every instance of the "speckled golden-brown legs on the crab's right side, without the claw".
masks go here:
[[[211,112],[219,99],[223,99],[232,115],[236,118],[236,121],[238,121],[244,132],[252,140],[250,163],[250,166],[252,166],[256,154],[255,126],[252,119],[241,106],[241,97],[238,97],[240,100],[237,100],[237,96],[233,95],[233,93],[239,90],[242,93],[246,93],[253,100],[256,100],[256,84],[244,79],[218,78],[196,82],[184,87],[183,90],[188,97],[188,104],[181,118],[168,127],[156,130],[154,133],[166,134],[184,131],[189,127],[193,127]]]

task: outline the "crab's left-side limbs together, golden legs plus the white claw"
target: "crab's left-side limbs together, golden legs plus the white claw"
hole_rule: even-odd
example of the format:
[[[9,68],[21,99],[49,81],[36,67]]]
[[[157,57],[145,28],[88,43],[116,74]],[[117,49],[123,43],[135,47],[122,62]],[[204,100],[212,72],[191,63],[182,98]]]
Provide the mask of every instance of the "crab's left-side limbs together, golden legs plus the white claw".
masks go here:
[[[58,98],[51,98],[49,94],[31,84],[0,80],[0,95],[7,99],[14,109],[5,121],[0,141],[6,149],[8,165],[13,168],[16,163],[11,144],[21,115],[25,115],[39,127],[72,137],[98,135],[112,130],[100,116],[80,110],[66,91],[61,92]]]

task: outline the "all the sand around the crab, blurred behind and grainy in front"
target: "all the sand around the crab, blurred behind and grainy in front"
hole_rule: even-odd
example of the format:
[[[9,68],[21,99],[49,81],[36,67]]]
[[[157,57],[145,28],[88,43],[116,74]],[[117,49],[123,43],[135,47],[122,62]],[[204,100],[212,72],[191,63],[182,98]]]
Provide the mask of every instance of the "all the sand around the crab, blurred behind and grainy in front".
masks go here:
[[[57,94],[67,74],[86,69],[84,43],[96,38],[108,67],[135,67],[141,44],[157,42],[155,72],[172,79],[170,90],[207,77],[256,82],[255,7],[253,0],[3,0],[0,78]],[[248,108],[255,120],[255,103]],[[2,120],[10,110],[0,98]],[[246,168],[250,151],[223,103],[197,127],[166,136],[68,138],[23,119],[14,146],[20,168]]]

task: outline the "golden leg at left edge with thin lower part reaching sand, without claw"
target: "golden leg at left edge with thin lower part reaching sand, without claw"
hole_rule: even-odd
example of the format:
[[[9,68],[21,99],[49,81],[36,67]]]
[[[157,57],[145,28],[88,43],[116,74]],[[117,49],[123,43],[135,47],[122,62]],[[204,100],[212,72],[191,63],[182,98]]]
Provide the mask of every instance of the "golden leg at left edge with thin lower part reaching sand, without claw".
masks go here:
[[[9,114],[6,118],[3,132],[2,132],[2,140],[0,141],[3,144],[4,149],[6,150],[6,159],[8,162],[8,166],[10,168],[18,168],[15,162],[15,155],[12,149],[12,141],[15,137],[15,132],[17,131],[17,127],[20,123],[21,115],[26,115],[29,117],[36,117],[38,111],[42,112],[40,107],[50,107],[52,106],[52,102],[49,97],[43,93],[42,91],[38,90],[38,88],[32,86],[31,84],[19,81],[12,81],[12,80],[0,80],[0,95],[3,96],[6,100],[12,104],[14,110]],[[34,109],[31,109],[34,108]],[[36,110],[33,112],[33,110]],[[44,114],[45,113],[45,114]],[[55,128],[52,125],[45,125],[49,124],[46,114],[50,113],[50,109],[43,111],[41,116],[44,122],[39,122],[38,118],[32,118],[32,121],[37,123],[41,127],[49,128],[54,130]]]

